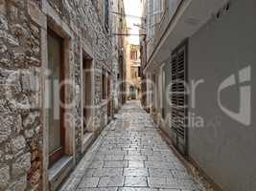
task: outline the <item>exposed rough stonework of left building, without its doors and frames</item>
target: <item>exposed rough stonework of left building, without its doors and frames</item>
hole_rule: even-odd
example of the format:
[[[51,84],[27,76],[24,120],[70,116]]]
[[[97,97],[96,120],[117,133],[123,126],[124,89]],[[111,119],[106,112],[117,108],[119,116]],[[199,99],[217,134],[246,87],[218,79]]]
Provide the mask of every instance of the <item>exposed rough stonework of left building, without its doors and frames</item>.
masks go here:
[[[42,190],[43,161],[43,84],[41,64],[41,26],[28,11],[35,5],[54,8],[61,22],[72,32],[73,56],[71,79],[75,88],[70,94],[76,100],[71,110],[75,117],[75,158],[81,152],[81,44],[93,53],[93,105],[102,104],[104,68],[112,74],[112,45],[91,0],[0,0],[0,190]],[[45,29],[44,29],[45,30]],[[112,91],[111,91],[112,92]],[[102,129],[106,105],[96,107],[93,124]]]

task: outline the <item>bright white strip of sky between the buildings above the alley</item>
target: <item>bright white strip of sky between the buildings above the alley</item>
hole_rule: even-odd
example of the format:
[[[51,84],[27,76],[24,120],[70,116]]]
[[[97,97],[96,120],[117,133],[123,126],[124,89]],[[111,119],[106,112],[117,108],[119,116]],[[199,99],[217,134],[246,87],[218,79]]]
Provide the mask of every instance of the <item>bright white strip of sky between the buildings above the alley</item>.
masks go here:
[[[141,0],[124,0],[124,2],[125,2],[126,14],[141,17],[142,15]],[[127,23],[128,23],[128,29],[130,30],[129,33],[139,34],[140,28],[134,26],[134,24],[141,25],[140,18],[127,16]],[[129,43],[139,45],[139,35],[130,35]]]

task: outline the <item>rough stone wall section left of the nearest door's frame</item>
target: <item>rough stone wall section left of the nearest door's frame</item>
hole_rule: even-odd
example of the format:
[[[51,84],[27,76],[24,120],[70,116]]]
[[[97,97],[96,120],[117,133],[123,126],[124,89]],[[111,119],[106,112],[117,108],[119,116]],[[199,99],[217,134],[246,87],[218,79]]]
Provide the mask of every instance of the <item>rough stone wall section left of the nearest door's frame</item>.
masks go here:
[[[40,28],[27,1],[0,1],[0,190],[40,186]]]

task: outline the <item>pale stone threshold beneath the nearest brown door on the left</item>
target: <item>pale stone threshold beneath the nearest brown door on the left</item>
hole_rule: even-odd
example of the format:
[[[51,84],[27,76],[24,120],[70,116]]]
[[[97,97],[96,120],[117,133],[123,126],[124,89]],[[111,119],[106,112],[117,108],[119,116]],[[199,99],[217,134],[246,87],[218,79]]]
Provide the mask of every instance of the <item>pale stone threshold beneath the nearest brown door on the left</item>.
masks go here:
[[[59,159],[49,170],[49,182],[51,190],[57,190],[61,182],[69,175],[74,168],[74,158],[64,156]]]

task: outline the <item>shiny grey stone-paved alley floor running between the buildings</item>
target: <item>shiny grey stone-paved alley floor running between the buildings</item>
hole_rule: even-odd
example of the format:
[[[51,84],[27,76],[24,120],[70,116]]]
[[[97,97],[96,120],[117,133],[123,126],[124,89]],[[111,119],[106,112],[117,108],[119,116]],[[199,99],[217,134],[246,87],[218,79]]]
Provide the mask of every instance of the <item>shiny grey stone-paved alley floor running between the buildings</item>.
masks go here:
[[[77,191],[203,190],[154,128],[139,102],[128,102],[63,185]]]

